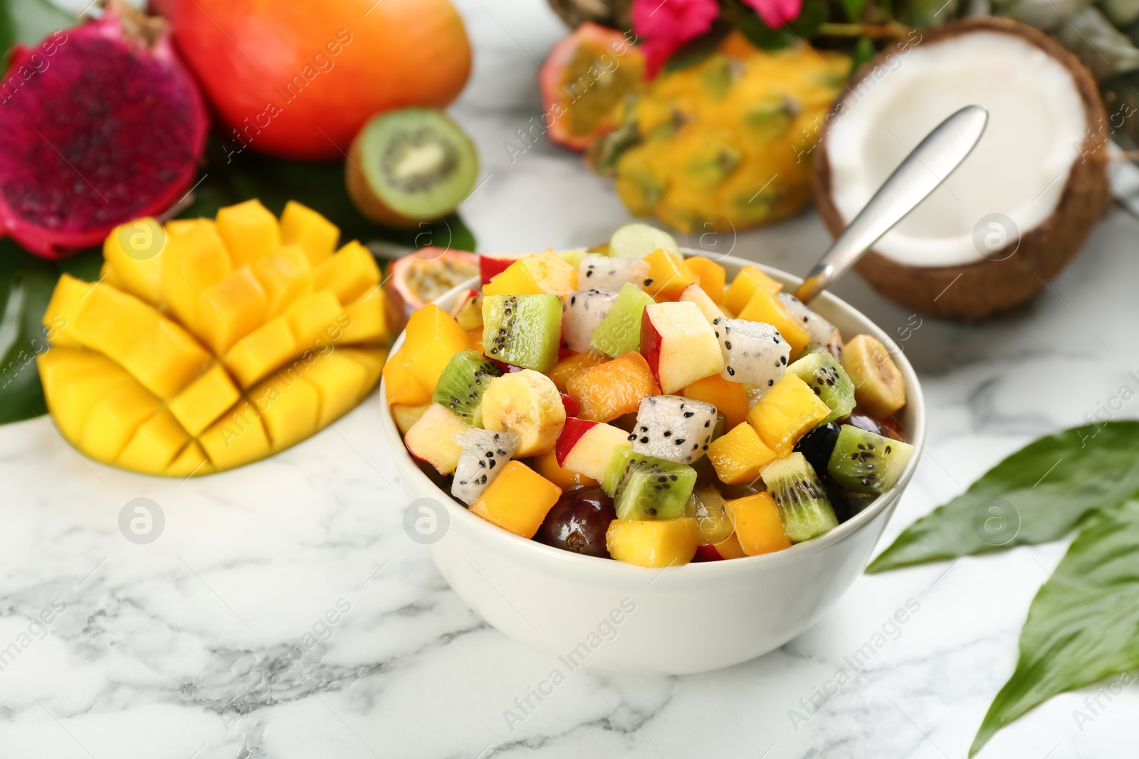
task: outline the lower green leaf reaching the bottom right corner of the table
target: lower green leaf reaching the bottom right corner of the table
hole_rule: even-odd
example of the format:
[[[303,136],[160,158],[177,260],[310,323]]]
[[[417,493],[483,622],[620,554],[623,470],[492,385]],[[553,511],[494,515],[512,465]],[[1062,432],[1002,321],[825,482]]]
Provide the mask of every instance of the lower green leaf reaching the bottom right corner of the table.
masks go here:
[[[989,708],[969,756],[1054,695],[1136,668],[1139,502],[1128,501],[1089,520],[1036,593],[1016,670]]]

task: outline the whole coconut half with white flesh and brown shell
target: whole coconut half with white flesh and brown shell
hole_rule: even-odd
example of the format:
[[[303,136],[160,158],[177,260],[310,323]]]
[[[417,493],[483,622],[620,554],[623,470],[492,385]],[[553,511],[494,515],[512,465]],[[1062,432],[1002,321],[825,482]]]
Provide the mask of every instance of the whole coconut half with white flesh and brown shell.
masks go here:
[[[1022,304],[1081,248],[1107,199],[1106,114],[1079,60],[1000,18],[923,30],[863,66],[827,116],[816,196],[841,232],[921,138],[978,104],[968,158],[857,271],[915,311],[976,319]]]

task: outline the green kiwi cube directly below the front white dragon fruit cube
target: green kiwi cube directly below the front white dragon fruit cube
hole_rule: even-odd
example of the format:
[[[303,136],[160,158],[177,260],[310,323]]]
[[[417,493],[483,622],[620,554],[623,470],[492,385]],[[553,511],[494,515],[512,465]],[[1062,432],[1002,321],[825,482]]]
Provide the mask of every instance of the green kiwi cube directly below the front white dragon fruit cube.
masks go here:
[[[696,470],[664,459],[622,451],[606,471],[617,519],[675,519],[685,515],[696,487]]]

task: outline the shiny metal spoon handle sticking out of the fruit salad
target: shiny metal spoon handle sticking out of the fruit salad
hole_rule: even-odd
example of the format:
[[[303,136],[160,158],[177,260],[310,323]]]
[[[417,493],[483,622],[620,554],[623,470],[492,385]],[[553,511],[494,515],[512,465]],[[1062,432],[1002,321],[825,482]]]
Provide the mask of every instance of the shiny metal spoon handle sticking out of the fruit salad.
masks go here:
[[[966,106],[929,132],[862,207],[795,291],[810,303],[953,173],[984,134],[989,112]]]

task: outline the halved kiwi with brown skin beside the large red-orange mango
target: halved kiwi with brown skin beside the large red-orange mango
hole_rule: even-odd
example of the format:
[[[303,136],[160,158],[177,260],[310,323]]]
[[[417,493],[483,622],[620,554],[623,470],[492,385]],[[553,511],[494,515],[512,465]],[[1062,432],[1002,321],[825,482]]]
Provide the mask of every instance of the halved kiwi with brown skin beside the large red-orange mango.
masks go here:
[[[375,116],[344,165],[352,203],[368,218],[413,228],[446,216],[470,193],[478,156],[470,138],[433,108]]]

